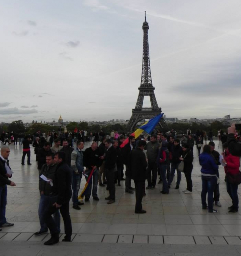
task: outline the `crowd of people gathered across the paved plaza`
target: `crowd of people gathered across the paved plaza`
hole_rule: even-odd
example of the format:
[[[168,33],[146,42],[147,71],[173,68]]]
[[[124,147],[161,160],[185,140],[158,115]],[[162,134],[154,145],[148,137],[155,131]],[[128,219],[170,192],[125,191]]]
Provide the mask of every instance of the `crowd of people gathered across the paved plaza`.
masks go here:
[[[222,157],[215,150],[215,143],[212,140],[203,146],[202,134],[196,134],[194,139],[190,129],[187,130],[187,135],[183,135],[180,140],[176,138],[174,130],[168,135],[160,132],[152,133],[149,136],[150,141],[143,135],[137,139],[134,136],[129,136],[126,139],[123,134],[119,135],[114,131],[109,137],[102,132],[101,136],[98,133],[98,138],[93,138],[91,146],[85,150],[83,150],[86,141],[85,135],[78,137],[78,133],[76,137],[67,133],[65,136],[51,133],[46,139],[46,136],[38,131],[33,137],[25,136],[22,141],[22,165],[24,165],[26,155],[27,164],[31,165],[30,145],[34,147],[36,154],[39,173],[40,229],[34,235],[40,236],[47,233],[49,229],[51,238],[45,242],[45,245],[59,242],[60,214],[65,227],[65,237],[62,241],[71,241],[72,225],[69,201],[72,198],[72,207],[76,210],[80,210],[80,206],[84,205],[84,202],[88,202],[91,195],[93,200],[98,201],[98,183],[99,187],[106,185],[109,196],[105,199],[107,204],[112,204],[115,202],[115,184],[121,186],[121,181],[125,180],[125,192],[133,194],[135,191],[135,213],[138,214],[146,213],[146,210],[142,208],[142,199],[146,195],[146,190],[155,189],[156,184],[159,183],[162,184],[160,192],[169,194],[175,172],[177,173],[175,189],[179,189],[182,173],[184,173],[186,189],[183,192],[191,194],[193,147],[195,144],[201,166],[203,209],[208,208],[208,212],[215,213],[217,210],[213,209],[213,202],[216,206],[221,206],[218,167],[223,164],[226,172],[227,192],[232,200],[229,212],[238,211],[237,190],[239,178],[241,183],[241,176],[239,177],[241,144],[235,138],[235,125],[228,128]],[[52,136],[54,145],[51,143],[52,140],[48,139]],[[74,148],[75,140],[76,147]],[[6,144],[5,141],[4,144]],[[200,153],[202,146],[203,152]],[[8,161],[9,154],[9,147],[3,145],[0,155],[0,227],[13,226],[13,223],[7,222],[5,217],[7,185],[16,185],[9,180],[12,176]],[[159,181],[157,180],[158,175],[160,175]],[[87,185],[83,194],[81,193],[84,196],[80,198],[79,190],[83,176]],[[132,180],[134,180],[135,188],[131,185]],[[206,202],[207,193],[208,204]],[[84,198],[84,202],[81,200],[82,198]]]

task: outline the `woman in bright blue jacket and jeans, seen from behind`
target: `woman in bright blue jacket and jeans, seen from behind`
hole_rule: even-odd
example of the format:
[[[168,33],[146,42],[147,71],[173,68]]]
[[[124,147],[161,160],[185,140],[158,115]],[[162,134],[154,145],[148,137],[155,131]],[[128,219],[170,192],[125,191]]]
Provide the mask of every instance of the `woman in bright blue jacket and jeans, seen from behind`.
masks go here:
[[[215,164],[215,160],[211,155],[210,145],[205,145],[203,152],[199,155],[199,163],[202,166],[202,205],[203,209],[207,209],[206,196],[208,192],[208,211],[211,213],[218,212],[213,209],[213,192],[217,184],[217,171],[218,165]]]

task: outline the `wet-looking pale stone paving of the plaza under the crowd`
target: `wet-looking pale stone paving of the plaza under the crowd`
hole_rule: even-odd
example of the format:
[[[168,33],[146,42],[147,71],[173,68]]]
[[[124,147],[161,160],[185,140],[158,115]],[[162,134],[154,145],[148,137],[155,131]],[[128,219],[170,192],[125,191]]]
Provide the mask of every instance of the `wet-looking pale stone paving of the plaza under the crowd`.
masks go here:
[[[215,141],[216,150],[222,146]],[[219,148],[218,148],[219,145]],[[89,145],[87,145],[89,146]],[[220,202],[218,213],[208,213],[201,204],[201,177],[196,147],[193,159],[193,193],[184,194],[183,175],[179,190],[173,182],[168,195],[160,193],[162,184],[147,190],[143,198],[146,214],[135,214],[135,194],[126,194],[124,181],[116,186],[116,201],[107,205],[105,187],[98,187],[99,201],[85,202],[81,210],[72,208],[72,243],[60,242],[43,246],[50,235],[35,237],[38,220],[38,171],[33,148],[31,166],[21,166],[22,146],[9,146],[12,180],[8,186],[6,217],[13,227],[0,232],[0,255],[240,255],[241,215],[228,213],[231,200],[226,192],[224,169],[220,172]],[[174,177],[174,180],[176,176]],[[85,185],[82,179],[81,189]],[[134,184],[133,184],[134,185]],[[239,195],[240,195],[239,188]],[[64,231],[61,222],[61,230]]]

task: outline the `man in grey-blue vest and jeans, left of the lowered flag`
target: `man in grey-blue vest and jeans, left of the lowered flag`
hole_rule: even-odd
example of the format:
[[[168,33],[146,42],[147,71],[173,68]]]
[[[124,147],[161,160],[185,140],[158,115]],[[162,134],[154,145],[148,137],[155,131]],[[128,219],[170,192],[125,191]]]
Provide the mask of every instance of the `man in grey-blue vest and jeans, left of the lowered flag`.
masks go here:
[[[84,203],[79,202],[78,193],[80,189],[80,181],[83,175],[84,166],[83,166],[83,152],[84,142],[78,141],[77,147],[71,153],[71,169],[72,169],[72,190],[73,190],[73,208],[80,210],[79,205]]]

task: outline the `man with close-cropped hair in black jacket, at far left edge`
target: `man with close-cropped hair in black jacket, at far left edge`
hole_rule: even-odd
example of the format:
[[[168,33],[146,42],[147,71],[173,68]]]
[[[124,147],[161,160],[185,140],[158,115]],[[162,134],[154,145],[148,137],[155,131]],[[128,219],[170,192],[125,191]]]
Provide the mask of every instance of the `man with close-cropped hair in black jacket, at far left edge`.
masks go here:
[[[0,227],[11,227],[13,223],[9,223],[6,220],[6,205],[7,205],[7,185],[11,187],[16,186],[11,178],[11,168],[9,167],[8,156],[10,154],[9,147],[2,147],[0,154]],[[2,229],[0,229],[1,231]]]

